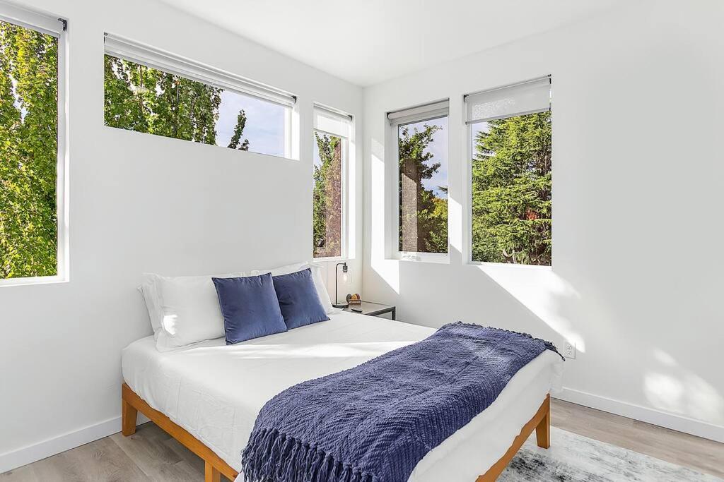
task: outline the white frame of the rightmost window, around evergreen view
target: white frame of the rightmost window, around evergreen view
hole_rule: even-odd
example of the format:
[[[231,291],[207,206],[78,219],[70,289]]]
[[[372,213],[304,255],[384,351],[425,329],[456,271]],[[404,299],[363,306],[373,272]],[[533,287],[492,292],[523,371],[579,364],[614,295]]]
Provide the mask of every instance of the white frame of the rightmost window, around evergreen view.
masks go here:
[[[536,77],[533,80],[536,79],[542,79],[547,77],[550,81],[550,103],[547,109],[541,109],[541,110],[534,110],[534,111],[526,111],[521,113],[514,113],[510,116],[492,116],[485,119],[476,119],[474,121],[468,121],[467,117],[467,97],[468,95],[474,95],[479,92],[485,92],[485,91],[478,91],[478,92],[471,92],[469,94],[463,95],[463,125],[465,126],[464,132],[466,134],[466,157],[463,159],[463,176],[465,176],[463,180],[463,196],[464,199],[466,199],[466,209],[463,210],[463,214],[465,218],[463,218],[463,264],[468,264],[472,266],[479,266],[481,268],[484,267],[508,267],[513,268],[516,270],[545,270],[545,271],[551,271],[553,268],[553,262],[554,257],[552,255],[551,251],[551,262],[549,265],[546,264],[517,264],[517,263],[501,263],[501,262],[492,262],[492,261],[476,261],[473,259],[473,126],[475,124],[481,124],[482,122],[487,121],[494,121],[497,119],[510,119],[510,117],[516,117],[516,116],[523,116],[531,113],[539,113],[539,112],[545,112],[550,111],[551,112],[551,118],[553,113],[553,100],[552,100],[552,92],[553,92],[553,82],[552,82],[552,76],[550,74],[542,77]],[[515,82],[510,85],[505,85],[502,87],[494,87],[490,90],[498,90],[506,87],[515,87],[516,85],[525,84],[527,82],[531,82],[531,80],[526,80],[523,82]],[[553,149],[553,134],[551,133],[551,151]],[[551,152],[551,176],[553,173],[553,163],[552,163],[552,152]],[[551,186],[551,199],[553,197],[553,186]],[[551,205],[551,211],[552,211]],[[551,239],[552,239],[552,232],[553,232],[553,226],[552,226],[552,218],[551,218]]]

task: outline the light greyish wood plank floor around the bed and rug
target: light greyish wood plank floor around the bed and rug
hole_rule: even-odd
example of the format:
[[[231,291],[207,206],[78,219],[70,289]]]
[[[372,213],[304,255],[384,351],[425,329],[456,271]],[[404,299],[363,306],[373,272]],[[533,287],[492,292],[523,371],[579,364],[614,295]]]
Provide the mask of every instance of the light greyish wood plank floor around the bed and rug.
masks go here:
[[[560,429],[724,478],[724,444],[560,400],[551,408]],[[203,462],[146,423],[130,437],[114,434],[0,474],[11,481],[203,481]]]

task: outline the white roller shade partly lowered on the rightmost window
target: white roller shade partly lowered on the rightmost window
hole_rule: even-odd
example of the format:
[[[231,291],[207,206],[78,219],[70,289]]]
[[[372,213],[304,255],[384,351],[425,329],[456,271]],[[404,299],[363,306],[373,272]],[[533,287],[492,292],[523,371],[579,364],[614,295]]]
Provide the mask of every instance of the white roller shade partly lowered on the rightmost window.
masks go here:
[[[465,97],[468,124],[550,110],[550,76]]]

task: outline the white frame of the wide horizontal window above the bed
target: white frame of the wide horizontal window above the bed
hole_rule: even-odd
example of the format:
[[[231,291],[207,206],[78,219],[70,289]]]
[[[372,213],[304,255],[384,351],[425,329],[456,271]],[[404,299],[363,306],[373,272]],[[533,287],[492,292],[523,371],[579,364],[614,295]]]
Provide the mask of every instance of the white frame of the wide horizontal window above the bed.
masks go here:
[[[193,82],[200,82],[211,87],[218,87],[223,90],[235,92],[238,95],[256,98],[264,102],[269,102],[284,108],[284,155],[268,154],[266,152],[256,152],[250,150],[253,154],[268,155],[272,158],[298,160],[298,149],[295,148],[295,127],[298,126],[294,122],[294,111],[297,108],[297,96],[286,90],[277,89],[261,82],[242,77],[232,72],[217,69],[214,66],[203,64],[198,61],[188,59],[184,56],[177,55],[160,48],[148,46],[144,43],[130,40],[121,35],[112,33],[104,33],[104,55],[113,56],[117,59],[123,59],[141,64],[151,69],[160,70],[167,74],[177,75]],[[105,127],[106,126],[104,123]],[[122,129],[125,130],[125,129]],[[138,131],[132,131],[138,132]],[[140,134],[145,134],[140,132]],[[176,139],[169,137],[169,139]],[[184,139],[177,139],[184,140]],[[208,145],[208,144],[207,144]],[[216,145],[216,147],[224,147]],[[226,147],[224,147],[226,148]]]

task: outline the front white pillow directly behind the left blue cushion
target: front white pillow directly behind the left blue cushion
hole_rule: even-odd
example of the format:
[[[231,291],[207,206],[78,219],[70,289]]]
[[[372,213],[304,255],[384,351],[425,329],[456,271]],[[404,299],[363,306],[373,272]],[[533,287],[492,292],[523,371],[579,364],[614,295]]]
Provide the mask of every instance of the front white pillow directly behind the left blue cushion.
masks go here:
[[[243,275],[236,272],[214,277]],[[143,275],[140,291],[159,351],[224,336],[224,317],[211,276]]]

